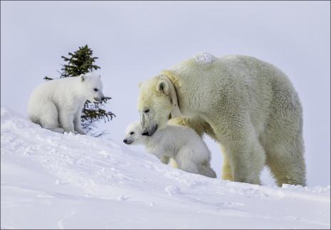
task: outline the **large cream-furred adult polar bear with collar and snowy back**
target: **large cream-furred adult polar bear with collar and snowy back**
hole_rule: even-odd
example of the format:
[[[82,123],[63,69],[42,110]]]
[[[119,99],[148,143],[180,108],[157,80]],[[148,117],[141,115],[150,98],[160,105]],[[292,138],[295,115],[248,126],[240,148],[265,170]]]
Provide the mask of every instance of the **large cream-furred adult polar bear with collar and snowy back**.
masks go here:
[[[172,114],[218,141],[224,179],[259,184],[266,164],[279,186],[305,185],[302,106],[288,77],[267,62],[200,53],[140,84],[137,107],[143,135]]]

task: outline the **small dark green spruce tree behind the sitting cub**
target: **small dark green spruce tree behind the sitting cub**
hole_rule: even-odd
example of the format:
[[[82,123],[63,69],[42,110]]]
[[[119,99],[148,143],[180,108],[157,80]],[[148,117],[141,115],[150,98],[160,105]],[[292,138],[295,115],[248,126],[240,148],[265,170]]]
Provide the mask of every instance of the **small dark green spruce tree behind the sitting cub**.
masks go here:
[[[74,53],[68,53],[68,57],[62,56],[62,59],[66,62],[61,69],[62,77],[78,77],[81,74],[88,72],[93,72],[93,70],[98,70],[100,67],[95,65],[94,62],[98,57],[93,57],[93,50],[91,50],[88,45],[79,47]],[[45,80],[53,80],[51,77],[44,77]],[[105,97],[102,102],[85,102],[82,111],[81,121],[82,126],[85,131],[92,130],[94,122],[99,119],[104,119],[104,121],[110,121],[115,116],[111,111],[105,111],[101,109],[111,97]]]

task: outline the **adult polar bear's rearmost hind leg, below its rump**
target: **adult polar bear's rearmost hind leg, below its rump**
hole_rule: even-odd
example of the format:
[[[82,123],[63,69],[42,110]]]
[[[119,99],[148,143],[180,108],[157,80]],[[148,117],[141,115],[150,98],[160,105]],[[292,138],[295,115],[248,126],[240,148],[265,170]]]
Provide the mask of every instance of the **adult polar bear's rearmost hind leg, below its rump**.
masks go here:
[[[275,92],[263,146],[278,186],[306,185],[302,113],[298,94],[293,89]]]

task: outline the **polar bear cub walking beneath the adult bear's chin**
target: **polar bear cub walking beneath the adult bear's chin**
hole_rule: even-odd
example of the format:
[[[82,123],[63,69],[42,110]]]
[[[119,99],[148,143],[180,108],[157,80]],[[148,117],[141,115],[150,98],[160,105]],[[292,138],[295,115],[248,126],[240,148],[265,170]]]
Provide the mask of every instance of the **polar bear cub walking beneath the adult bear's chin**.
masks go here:
[[[162,163],[173,158],[177,167],[207,177],[216,177],[210,167],[211,153],[202,138],[185,126],[167,125],[158,129],[153,136],[142,136],[140,122],[127,126],[124,143],[143,144],[147,153],[155,155]]]

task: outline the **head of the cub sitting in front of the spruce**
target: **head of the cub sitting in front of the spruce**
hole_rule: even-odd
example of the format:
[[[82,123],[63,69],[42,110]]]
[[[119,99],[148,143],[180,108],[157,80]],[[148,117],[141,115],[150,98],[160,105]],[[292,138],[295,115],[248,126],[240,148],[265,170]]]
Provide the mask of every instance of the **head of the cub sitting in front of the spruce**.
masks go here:
[[[80,75],[80,84],[83,86],[83,94],[90,102],[101,102],[105,96],[103,95],[103,82],[101,76],[93,73]]]

